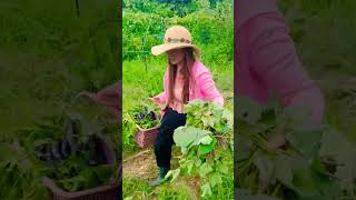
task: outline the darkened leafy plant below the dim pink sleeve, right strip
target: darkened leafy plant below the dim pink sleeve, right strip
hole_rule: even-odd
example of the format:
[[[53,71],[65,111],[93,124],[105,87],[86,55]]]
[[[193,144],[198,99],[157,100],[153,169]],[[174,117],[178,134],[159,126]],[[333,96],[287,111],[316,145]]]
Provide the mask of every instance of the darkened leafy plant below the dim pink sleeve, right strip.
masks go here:
[[[342,160],[330,138],[344,143],[344,150],[355,152],[342,134],[328,126],[313,126],[304,108],[285,108],[278,104],[263,107],[248,98],[239,98],[240,112],[237,126],[238,156],[236,182],[239,189],[248,188],[253,194],[266,193],[283,199],[335,199],[344,192],[353,194],[353,183],[343,187],[339,164],[354,168],[354,161]],[[268,148],[274,136],[283,134],[283,148]],[[328,139],[327,139],[328,138]],[[347,150],[346,150],[347,149]],[[327,151],[323,152],[323,151]],[[343,151],[345,153],[345,151]]]

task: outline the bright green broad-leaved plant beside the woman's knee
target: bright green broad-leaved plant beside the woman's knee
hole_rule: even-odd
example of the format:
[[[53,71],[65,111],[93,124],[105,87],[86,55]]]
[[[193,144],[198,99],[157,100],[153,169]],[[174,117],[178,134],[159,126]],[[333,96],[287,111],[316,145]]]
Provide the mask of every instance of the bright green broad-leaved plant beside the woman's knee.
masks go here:
[[[181,148],[179,168],[166,178],[196,174],[201,179],[201,197],[209,197],[222,181],[233,182],[233,114],[216,103],[195,100],[185,106],[187,123],[175,130]],[[231,194],[231,193],[230,193]]]

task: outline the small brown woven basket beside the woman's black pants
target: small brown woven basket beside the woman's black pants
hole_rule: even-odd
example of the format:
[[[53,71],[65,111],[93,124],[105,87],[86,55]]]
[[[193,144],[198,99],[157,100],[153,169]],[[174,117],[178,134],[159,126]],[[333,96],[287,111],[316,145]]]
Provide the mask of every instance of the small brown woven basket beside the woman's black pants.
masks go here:
[[[138,131],[135,134],[135,139],[140,148],[147,148],[155,143],[159,132],[159,127],[154,127],[151,129],[142,129],[139,126],[137,126],[137,128]]]

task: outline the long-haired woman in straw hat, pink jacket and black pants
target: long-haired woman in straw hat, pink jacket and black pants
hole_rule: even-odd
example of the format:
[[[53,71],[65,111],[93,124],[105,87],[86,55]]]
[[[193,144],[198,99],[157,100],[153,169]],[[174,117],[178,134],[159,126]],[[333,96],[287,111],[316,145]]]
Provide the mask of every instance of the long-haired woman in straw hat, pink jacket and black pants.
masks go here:
[[[172,134],[186,123],[184,104],[190,100],[217,102],[224,106],[224,98],[217,90],[210,71],[198,61],[199,49],[192,44],[190,32],[174,26],[167,29],[164,44],[151,49],[155,56],[167,53],[168,68],[164,78],[164,92],[151,98],[161,106],[162,120],[155,143],[159,176],[149,186],[158,186],[170,169]]]

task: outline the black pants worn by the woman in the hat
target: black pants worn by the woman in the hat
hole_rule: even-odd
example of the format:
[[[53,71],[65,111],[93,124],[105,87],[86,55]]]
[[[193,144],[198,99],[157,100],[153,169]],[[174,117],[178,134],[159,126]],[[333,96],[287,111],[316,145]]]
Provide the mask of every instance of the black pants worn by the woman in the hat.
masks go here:
[[[170,169],[170,154],[174,141],[174,132],[180,126],[186,124],[186,114],[178,113],[171,108],[166,109],[166,113],[161,120],[159,133],[156,138],[155,154],[158,167]]]

